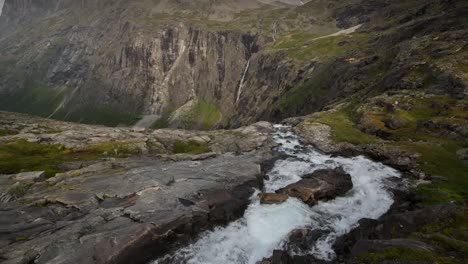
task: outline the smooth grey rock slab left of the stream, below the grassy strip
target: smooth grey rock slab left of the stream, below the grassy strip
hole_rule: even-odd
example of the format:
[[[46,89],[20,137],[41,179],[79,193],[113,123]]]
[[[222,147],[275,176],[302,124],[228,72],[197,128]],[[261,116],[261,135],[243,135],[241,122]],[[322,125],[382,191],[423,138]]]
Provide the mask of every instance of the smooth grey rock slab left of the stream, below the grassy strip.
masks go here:
[[[4,263],[144,263],[242,215],[261,158],[104,161],[34,183],[0,204]]]

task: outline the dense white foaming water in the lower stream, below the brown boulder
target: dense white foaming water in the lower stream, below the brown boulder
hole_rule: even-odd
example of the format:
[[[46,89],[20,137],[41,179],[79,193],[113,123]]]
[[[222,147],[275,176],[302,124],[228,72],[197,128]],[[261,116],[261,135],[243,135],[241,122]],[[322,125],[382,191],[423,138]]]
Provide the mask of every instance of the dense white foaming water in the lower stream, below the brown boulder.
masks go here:
[[[205,234],[161,263],[255,263],[281,247],[291,228],[307,225],[310,213],[297,199],[267,206],[255,200],[242,219]]]

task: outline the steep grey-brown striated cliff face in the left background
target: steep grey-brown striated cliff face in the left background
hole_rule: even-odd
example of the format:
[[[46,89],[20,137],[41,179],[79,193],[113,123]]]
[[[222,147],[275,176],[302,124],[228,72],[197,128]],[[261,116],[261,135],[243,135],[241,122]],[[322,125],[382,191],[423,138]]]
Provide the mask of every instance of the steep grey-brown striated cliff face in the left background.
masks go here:
[[[152,115],[173,127],[238,126],[267,111],[274,94],[266,85],[280,91],[297,75],[286,64],[272,68],[284,56],[254,56],[264,42],[257,34],[159,21],[167,15],[153,8],[143,0],[7,0],[1,108],[108,125]]]

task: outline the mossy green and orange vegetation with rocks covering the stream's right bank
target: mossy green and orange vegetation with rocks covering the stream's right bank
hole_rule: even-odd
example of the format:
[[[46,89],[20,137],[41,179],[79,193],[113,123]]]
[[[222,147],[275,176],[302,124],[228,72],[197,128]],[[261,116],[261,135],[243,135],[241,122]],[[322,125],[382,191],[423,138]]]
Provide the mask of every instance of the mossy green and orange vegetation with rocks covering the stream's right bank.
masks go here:
[[[359,263],[391,260],[425,263],[464,263],[468,255],[468,164],[458,155],[468,148],[462,128],[468,126],[468,102],[449,96],[418,92],[398,93],[366,101],[348,100],[336,111],[322,112],[313,122],[332,128],[336,142],[382,148],[398,148],[418,154],[419,169],[432,177],[416,188],[422,205],[455,202],[464,211],[442,224],[422,226],[408,238],[423,241],[437,250],[420,251],[392,247],[359,257]],[[392,120],[392,122],[389,122]],[[312,120],[311,120],[312,121]]]

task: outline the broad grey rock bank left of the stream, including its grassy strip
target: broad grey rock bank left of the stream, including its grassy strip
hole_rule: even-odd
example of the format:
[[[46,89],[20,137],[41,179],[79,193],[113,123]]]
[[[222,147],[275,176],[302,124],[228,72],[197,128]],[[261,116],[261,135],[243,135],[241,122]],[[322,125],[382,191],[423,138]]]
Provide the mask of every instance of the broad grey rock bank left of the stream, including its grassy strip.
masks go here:
[[[15,172],[0,174],[2,263],[144,263],[241,216],[272,142],[268,122],[146,130],[0,112],[0,125]],[[28,163],[56,154],[71,158]]]

